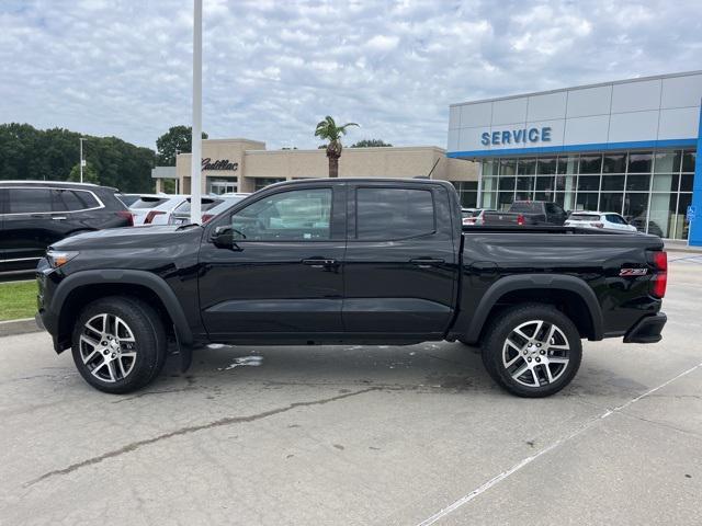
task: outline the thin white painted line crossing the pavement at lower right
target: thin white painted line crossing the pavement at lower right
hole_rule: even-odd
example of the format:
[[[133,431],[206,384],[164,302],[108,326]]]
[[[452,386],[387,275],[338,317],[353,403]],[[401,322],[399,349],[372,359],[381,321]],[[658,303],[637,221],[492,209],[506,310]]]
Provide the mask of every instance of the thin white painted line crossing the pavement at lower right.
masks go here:
[[[553,442],[552,444],[550,444],[548,446],[544,447],[543,449],[539,450],[534,455],[531,455],[531,456],[520,460],[519,462],[513,465],[508,470],[502,471],[501,473],[492,477],[490,480],[485,482],[483,485],[480,485],[480,487],[476,488],[475,490],[471,491],[469,493],[465,494],[464,496],[462,496],[461,499],[458,499],[454,503],[450,504],[449,506],[440,510],[439,512],[437,512],[435,514],[433,514],[429,518],[426,518],[424,521],[419,523],[417,526],[429,526],[431,524],[434,524],[435,522],[438,522],[441,518],[445,517],[446,515],[453,513],[454,511],[456,511],[457,508],[460,508],[464,504],[467,504],[468,502],[471,502],[476,496],[480,495],[482,493],[485,493],[487,490],[489,490],[494,485],[499,484],[502,480],[505,480],[508,477],[510,477],[511,474],[516,473],[517,471],[522,469],[524,466],[530,465],[531,462],[536,460],[539,457],[547,454],[548,451],[552,451],[553,449],[557,448],[562,444],[568,442],[571,438],[575,438],[579,434],[581,434],[585,431],[589,430],[597,422],[600,422],[600,421],[611,416],[612,414],[618,413],[618,412],[626,409],[627,407],[638,402],[643,398],[646,398],[646,397],[653,395],[654,392],[658,391],[659,389],[663,389],[664,387],[672,384],[673,381],[678,380],[679,378],[682,378],[683,376],[687,376],[690,373],[693,373],[694,370],[699,369],[700,367],[702,367],[702,363],[699,363],[698,365],[694,365],[694,366],[690,367],[689,369],[683,370],[679,375],[677,375],[677,376],[664,381],[663,384],[660,384],[657,387],[654,387],[653,389],[649,389],[648,391],[644,392],[643,395],[639,395],[636,398],[632,398],[631,400],[626,401],[625,403],[622,403],[621,405],[618,405],[618,407],[615,407],[613,409],[608,409],[607,411],[604,411],[599,416],[596,416],[596,418],[593,418],[591,420],[588,420],[585,424],[582,424],[581,426],[579,426],[575,431],[573,431],[570,433],[567,433],[566,435],[564,435],[563,437],[561,437],[557,441]]]

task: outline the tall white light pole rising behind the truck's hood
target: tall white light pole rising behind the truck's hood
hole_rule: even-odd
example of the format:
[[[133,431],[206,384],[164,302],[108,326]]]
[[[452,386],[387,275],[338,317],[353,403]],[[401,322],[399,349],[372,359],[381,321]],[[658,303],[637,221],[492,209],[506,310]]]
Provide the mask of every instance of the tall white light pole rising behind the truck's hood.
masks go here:
[[[202,222],[202,0],[194,0],[193,24],[193,136],[190,172],[190,222]]]

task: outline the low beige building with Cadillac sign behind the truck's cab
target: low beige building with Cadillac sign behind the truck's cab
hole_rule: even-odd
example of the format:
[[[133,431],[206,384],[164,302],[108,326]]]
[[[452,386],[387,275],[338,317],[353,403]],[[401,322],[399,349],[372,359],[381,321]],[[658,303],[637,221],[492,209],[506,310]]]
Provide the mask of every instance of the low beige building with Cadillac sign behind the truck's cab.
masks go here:
[[[174,179],[178,191],[191,192],[190,153],[180,153],[176,168],[151,172],[157,191],[165,179]],[[256,192],[272,183],[329,175],[325,149],[267,150],[265,142],[250,139],[202,141],[203,194]],[[440,179],[451,181],[466,205],[477,201],[477,163],[451,159],[437,146],[344,148],[339,160],[341,178]]]

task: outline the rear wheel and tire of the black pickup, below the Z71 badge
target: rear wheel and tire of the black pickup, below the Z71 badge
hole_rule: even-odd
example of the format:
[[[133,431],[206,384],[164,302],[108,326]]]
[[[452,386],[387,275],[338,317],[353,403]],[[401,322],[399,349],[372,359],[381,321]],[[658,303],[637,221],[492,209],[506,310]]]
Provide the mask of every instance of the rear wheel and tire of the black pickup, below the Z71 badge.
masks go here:
[[[521,304],[500,312],[486,329],[482,354],[501,387],[518,397],[543,398],[570,384],[580,367],[582,344],[575,323],[555,307]]]

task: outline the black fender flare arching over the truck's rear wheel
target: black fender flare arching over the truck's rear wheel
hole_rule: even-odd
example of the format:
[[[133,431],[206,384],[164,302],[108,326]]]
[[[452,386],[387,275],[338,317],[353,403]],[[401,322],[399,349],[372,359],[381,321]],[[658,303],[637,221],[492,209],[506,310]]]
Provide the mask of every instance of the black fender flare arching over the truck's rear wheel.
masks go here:
[[[567,290],[577,294],[585,301],[590,313],[593,333],[592,340],[602,339],[602,309],[600,308],[600,302],[595,291],[584,279],[575,276],[564,276],[562,274],[520,274],[505,276],[487,289],[475,310],[475,316],[468,324],[468,329],[463,336],[464,340],[471,343],[479,340],[488,313],[502,296],[514,290],[535,288]]]

